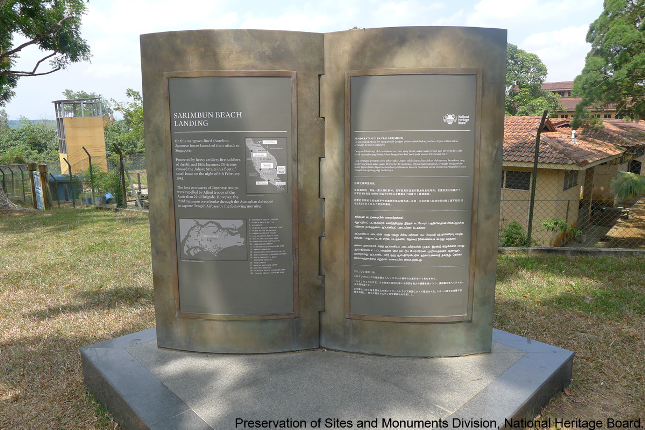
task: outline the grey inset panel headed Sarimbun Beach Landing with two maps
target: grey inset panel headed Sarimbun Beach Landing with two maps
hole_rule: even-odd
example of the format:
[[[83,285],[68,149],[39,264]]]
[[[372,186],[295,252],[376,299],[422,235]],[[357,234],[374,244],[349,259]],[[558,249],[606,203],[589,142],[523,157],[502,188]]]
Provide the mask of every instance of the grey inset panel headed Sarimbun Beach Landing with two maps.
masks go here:
[[[180,313],[293,316],[291,77],[169,78],[168,95]]]

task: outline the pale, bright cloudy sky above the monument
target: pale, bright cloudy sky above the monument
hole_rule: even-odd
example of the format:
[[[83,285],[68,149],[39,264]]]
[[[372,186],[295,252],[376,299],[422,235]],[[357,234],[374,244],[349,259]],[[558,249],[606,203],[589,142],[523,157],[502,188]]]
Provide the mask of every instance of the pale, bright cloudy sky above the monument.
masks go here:
[[[91,0],[81,30],[92,51],[91,62],[21,78],[5,110],[9,119],[53,119],[52,101],[63,99],[66,89],[125,102],[127,88],[141,91],[139,36],[180,30],[503,28],[509,43],[540,57],[548,69],[547,82],[570,81],[582,71],[590,50],[587,30],[602,4],[603,0]],[[15,69],[31,70],[43,56],[30,48]]]

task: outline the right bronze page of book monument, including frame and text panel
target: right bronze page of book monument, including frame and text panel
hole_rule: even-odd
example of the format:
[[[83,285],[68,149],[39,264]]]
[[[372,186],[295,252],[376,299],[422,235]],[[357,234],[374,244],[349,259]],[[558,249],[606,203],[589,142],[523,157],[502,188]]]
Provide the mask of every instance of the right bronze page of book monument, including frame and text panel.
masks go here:
[[[325,34],[321,346],[489,352],[506,31]]]

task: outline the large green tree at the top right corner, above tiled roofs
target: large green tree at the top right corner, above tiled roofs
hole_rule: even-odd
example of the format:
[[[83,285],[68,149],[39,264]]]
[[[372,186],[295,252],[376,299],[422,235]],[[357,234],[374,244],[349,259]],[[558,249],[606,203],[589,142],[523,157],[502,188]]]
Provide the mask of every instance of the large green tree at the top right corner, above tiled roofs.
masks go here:
[[[616,105],[618,115],[645,117],[645,0],[605,0],[590,26],[591,51],[573,84],[580,105]],[[576,112],[584,121],[584,112]]]

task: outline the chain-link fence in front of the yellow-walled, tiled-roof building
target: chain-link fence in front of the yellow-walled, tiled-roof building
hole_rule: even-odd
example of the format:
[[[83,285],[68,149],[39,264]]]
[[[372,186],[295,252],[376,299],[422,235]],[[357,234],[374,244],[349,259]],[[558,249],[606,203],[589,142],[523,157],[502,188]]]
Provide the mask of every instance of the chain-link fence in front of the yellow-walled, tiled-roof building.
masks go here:
[[[618,189],[625,176],[619,172],[640,175],[645,157],[638,155],[538,168],[532,225],[533,171],[504,166],[500,246],[645,248],[645,197],[621,198]]]

